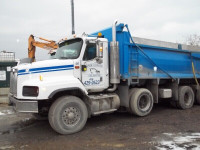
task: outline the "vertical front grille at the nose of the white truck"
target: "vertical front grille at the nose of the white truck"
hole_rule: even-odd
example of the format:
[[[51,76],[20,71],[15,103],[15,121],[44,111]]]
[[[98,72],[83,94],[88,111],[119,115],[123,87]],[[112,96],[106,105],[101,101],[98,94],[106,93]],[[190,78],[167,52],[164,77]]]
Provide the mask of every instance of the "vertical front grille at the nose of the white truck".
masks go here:
[[[10,93],[17,96],[17,71],[10,73]]]

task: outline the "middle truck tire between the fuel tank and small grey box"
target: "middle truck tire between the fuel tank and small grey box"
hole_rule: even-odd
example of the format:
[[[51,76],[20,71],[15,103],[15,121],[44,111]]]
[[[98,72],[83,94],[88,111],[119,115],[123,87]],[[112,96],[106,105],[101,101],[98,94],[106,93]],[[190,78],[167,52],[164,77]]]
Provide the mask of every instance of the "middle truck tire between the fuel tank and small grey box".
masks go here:
[[[130,110],[133,114],[143,117],[153,108],[153,95],[147,89],[136,89],[130,99]]]

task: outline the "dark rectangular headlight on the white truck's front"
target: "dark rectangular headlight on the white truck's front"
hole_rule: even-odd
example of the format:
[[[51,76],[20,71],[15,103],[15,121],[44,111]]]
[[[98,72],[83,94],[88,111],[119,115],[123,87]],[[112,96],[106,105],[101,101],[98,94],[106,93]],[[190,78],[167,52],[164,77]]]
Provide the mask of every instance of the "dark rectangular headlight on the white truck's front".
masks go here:
[[[37,97],[39,94],[39,88],[37,86],[24,86],[23,96]]]

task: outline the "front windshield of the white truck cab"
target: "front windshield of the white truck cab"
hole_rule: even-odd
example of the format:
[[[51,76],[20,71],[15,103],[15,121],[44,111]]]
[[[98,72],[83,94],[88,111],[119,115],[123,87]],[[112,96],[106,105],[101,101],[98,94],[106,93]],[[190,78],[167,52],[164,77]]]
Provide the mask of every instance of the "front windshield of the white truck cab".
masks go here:
[[[83,40],[80,38],[67,40],[59,45],[55,58],[76,59],[79,57]]]

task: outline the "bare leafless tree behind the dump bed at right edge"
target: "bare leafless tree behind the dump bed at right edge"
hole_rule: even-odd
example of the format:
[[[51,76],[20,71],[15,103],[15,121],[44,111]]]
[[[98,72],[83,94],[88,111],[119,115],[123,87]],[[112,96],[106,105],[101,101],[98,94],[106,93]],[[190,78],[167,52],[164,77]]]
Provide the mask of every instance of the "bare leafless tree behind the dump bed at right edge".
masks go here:
[[[191,34],[186,38],[185,43],[192,46],[200,46],[200,35]]]

